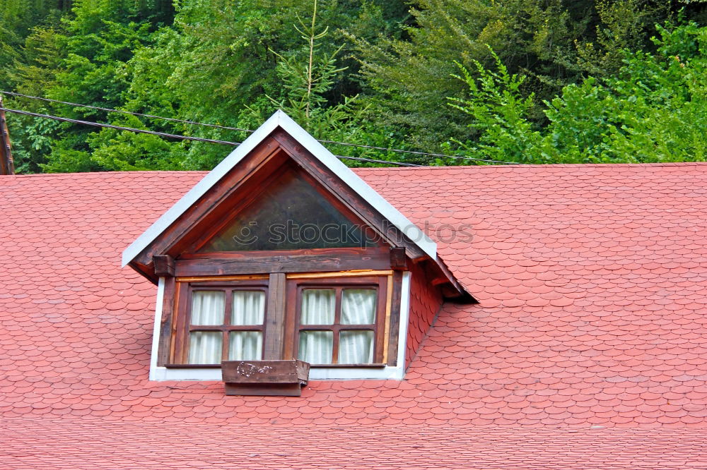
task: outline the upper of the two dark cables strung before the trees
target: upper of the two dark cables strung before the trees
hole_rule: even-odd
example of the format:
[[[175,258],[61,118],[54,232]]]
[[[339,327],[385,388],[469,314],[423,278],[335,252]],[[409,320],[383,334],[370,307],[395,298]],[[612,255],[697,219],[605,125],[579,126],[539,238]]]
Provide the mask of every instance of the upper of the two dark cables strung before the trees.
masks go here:
[[[22,93],[17,93],[17,92],[7,92],[7,91],[0,90],[0,93],[4,93],[6,95],[11,95],[11,96],[16,96],[16,97],[29,98],[30,100],[41,100],[41,101],[51,102],[51,103],[66,104],[67,106],[81,107],[81,108],[87,108],[87,109],[98,109],[99,111],[119,113],[119,114],[129,114],[131,116],[141,116],[141,117],[146,117],[149,119],[162,119],[163,121],[172,121],[172,122],[179,122],[179,123],[185,123],[185,124],[193,124],[194,126],[205,126],[205,127],[211,127],[211,128],[218,128],[218,129],[224,129],[226,131],[238,131],[238,132],[247,132],[247,133],[255,132],[250,129],[230,127],[230,126],[220,126],[218,124],[209,124],[209,123],[203,123],[203,122],[197,122],[197,121],[189,121],[186,119],[176,119],[176,118],[169,118],[169,117],[165,117],[165,116],[155,116],[153,114],[143,114],[143,113],[136,113],[136,112],[131,112],[131,111],[123,111],[122,109],[104,108],[104,107],[92,106],[90,104],[79,104],[79,103],[72,103],[72,102],[68,102],[68,101],[52,100],[50,98],[42,98],[42,97],[31,96],[31,95],[23,95]],[[328,144],[333,144],[333,145],[345,145],[346,147],[358,147],[358,148],[366,148],[366,149],[370,149],[370,150],[380,150],[382,152],[407,153],[410,155],[419,155],[421,157],[452,158],[452,159],[469,160],[472,162],[485,162],[485,163],[508,164],[508,165],[520,164],[518,162],[504,162],[502,160],[483,159],[483,158],[474,158],[474,157],[462,157],[461,155],[446,155],[443,153],[419,152],[417,150],[404,150],[404,149],[399,149],[399,148],[376,147],[375,145],[363,145],[363,144],[355,144],[355,143],[349,143],[349,142],[338,142],[337,140],[317,139],[317,141],[320,143],[328,143]],[[361,158],[361,157],[359,157],[359,158]],[[419,165],[419,166],[424,166],[424,165]]]

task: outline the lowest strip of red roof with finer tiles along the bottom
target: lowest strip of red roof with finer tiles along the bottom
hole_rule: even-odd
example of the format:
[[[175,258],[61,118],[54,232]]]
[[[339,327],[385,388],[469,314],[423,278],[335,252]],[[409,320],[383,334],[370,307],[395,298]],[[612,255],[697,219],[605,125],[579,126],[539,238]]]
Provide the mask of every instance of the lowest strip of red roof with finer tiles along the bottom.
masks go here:
[[[707,466],[707,431],[689,428],[260,426],[256,432],[244,424],[201,424],[196,429],[193,423],[8,418],[0,422],[0,430],[5,431],[0,433],[3,469],[684,470]]]

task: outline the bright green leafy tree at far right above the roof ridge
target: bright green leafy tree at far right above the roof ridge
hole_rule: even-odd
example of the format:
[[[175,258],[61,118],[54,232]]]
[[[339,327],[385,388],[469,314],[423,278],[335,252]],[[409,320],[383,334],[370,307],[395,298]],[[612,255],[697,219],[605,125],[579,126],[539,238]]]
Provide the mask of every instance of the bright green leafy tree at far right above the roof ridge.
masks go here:
[[[568,85],[548,103],[547,138],[582,162],[705,159],[707,28],[659,27],[657,51],[625,52],[616,77]]]

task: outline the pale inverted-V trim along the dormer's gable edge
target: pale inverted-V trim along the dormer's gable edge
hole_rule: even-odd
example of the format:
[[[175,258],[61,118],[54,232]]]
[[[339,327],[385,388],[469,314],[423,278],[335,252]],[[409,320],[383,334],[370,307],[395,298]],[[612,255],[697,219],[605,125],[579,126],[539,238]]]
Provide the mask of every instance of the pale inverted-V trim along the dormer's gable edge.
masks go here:
[[[373,188],[368,186],[354,171],[351,171],[351,169],[341,163],[337,157],[334,157],[332,152],[329,152],[324,145],[317,142],[317,140],[301,128],[298,123],[293,121],[290,116],[278,110],[275,114],[270,116],[262,126],[257,128],[257,131],[245,139],[242,144],[238,145],[233,152],[230,152],[228,157],[216,165],[213,170],[209,171],[209,174],[204,176],[204,178],[178,200],[175,205],[170,207],[170,210],[165,212],[155,223],[148,227],[141,236],[131,243],[130,246],[125,248],[123,251],[122,265],[127,265],[139,255],[139,253],[152,243],[163,231],[168,229],[180,215],[186,212],[189,207],[192,207],[206,191],[209,191],[211,186],[214,186],[214,184],[223,178],[230,169],[235,167],[241,159],[248,155],[251,150],[261,143],[262,140],[277,127],[281,127],[297,140],[300,145],[309,150],[320,162],[339,176],[349,188],[360,195],[361,198],[368,201],[375,210],[378,210],[380,215],[388,219],[395,227],[406,234],[408,238],[419,246],[430,258],[433,260],[437,259],[437,244],[429,239],[419,227],[410,222],[399,210],[388,203],[387,200],[374,191]]]

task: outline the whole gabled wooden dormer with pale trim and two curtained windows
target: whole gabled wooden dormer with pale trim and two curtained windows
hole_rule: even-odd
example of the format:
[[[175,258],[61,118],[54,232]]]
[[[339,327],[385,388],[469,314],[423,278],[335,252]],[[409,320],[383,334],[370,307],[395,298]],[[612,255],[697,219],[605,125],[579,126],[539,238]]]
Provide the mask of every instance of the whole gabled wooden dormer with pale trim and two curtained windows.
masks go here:
[[[283,359],[312,380],[401,379],[443,299],[472,300],[436,243],[283,112],[123,265],[158,284],[151,380]]]

